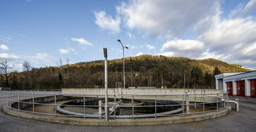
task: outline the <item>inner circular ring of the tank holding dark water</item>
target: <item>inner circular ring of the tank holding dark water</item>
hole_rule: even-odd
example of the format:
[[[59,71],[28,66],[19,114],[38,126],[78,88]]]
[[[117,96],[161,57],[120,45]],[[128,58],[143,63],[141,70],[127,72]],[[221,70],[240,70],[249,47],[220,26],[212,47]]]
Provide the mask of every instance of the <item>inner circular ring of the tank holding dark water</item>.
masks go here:
[[[109,98],[108,100],[110,107],[109,110],[107,110],[107,114],[109,114],[110,118],[161,117],[161,115],[176,114],[183,111],[183,107],[181,107],[180,103],[171,100],[131,100],[124,98],[116,100]],[[84,104],[86,104],[87,107],[84,107]],[[80,99],[62,103],[57,107],[57,111],[62,114],[81,116],[84,115],[85,110],[87,113],[85,117],[103,118],[105,117],[105,112],[100,112],[105,108],[99,106],[104,105],[104,98],[85,98],[85,100]],[[160,107],[154,107],[154,105],[160,105]]]

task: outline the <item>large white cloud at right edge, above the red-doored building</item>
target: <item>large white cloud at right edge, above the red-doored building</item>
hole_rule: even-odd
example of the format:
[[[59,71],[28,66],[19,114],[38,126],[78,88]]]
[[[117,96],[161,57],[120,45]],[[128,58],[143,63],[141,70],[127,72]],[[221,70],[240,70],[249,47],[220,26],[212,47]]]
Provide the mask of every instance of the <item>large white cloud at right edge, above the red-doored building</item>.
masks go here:
[[[256,65],[243,61],[256,60],[256,22],[253,18],[219,20],[211,29],[201,34],[199,39],[207,44],[210,54],[223,55],[219,58],[221,60],[238,62],[245,67]]]

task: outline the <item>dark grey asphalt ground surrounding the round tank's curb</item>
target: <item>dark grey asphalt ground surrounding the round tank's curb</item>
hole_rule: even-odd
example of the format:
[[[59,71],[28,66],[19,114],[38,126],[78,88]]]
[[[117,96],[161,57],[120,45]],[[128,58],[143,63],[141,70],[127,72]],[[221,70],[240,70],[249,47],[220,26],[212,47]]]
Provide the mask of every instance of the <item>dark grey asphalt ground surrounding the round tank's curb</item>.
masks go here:
[[[0,131],[256,131],[256,99],[239,99],[240,112],[207,121],[156,126],[74,126],[10,116],[2,108],[6,91],[0,91]]]

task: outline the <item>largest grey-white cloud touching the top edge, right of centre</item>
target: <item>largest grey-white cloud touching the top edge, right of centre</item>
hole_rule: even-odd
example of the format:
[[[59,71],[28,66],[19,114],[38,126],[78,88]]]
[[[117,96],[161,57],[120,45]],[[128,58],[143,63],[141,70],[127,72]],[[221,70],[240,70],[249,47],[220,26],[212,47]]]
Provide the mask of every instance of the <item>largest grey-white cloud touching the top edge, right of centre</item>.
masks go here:
[[[219,2],[138,0],[123,2],[116,9],[130,29],[142,30],[151,37],[171,38],[182,36],[188,29],[194,30],[202,20],[216,15]]]

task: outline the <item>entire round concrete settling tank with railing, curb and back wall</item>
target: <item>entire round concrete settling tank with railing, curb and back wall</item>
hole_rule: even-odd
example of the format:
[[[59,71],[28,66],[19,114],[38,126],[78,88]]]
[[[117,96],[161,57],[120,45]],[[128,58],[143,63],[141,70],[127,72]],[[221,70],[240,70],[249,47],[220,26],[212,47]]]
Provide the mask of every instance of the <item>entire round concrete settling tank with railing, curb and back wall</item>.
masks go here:
[[[172,124],[221,117],[231,111],[227,93],[215,89],[63,88],[13,91],[4,111],[29,119],[83,125]],[[105,112],[109,121],[104,121]],[[129,119],[129,120],[127,120]]]

